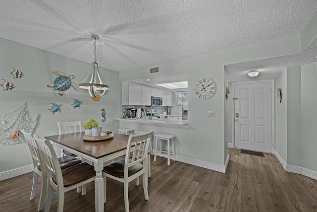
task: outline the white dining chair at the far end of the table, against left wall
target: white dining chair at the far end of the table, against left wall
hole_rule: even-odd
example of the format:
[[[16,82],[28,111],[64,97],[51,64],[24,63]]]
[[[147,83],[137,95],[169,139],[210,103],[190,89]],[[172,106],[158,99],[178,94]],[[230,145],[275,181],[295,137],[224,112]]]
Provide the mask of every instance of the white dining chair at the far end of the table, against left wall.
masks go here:
[[[58,126],[59,135],[68,134],[68,133],[77,133],[77,132],[83,131],[81,121],[57,122],[57,126]],[[62,155],[71,155],[73,157],[81,159],[79,156],[73,154],[72,152],[66,151],[64,149],[61,149],[61,154]]]

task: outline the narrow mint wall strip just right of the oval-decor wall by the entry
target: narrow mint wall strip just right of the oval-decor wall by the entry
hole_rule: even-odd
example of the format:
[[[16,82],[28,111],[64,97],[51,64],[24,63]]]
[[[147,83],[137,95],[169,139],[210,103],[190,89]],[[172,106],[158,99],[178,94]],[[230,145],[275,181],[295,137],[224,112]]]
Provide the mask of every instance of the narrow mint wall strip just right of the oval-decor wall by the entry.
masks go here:
[[[301,166],[301,67],[287,68],[287,164]],[[285,96],[285,95],[284,95]],[[275,116],[276,118],[276,116]]]

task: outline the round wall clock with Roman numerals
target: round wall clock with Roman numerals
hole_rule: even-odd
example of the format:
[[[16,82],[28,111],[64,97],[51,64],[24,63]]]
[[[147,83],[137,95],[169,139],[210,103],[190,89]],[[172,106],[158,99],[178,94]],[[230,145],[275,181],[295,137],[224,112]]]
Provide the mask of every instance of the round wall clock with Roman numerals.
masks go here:
[[[216,92],[216,84],[211,78],[199,79],[194,87],[194,92],[198,98],[209,99]]]

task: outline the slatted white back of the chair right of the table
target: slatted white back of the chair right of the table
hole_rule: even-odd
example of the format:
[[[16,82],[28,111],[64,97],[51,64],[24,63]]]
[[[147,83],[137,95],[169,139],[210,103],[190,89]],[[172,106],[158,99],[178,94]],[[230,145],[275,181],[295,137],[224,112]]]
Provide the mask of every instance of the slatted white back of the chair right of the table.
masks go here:
[[[149,145],[153,137],[154,130],[139,134],[139,135],[131,135],[129,137],[129,141],[127,144],[127,151],[125,156],[125,164],[124,164],[124,175],[128,176],[128,168],[145,161],[148,156]],[[131,149],[133,149],[131,151]],[[132,152],[132,157],[131,153]],[[143,162],[143,164],[145,164]],[[145,166],[145,165],[144,165]]]

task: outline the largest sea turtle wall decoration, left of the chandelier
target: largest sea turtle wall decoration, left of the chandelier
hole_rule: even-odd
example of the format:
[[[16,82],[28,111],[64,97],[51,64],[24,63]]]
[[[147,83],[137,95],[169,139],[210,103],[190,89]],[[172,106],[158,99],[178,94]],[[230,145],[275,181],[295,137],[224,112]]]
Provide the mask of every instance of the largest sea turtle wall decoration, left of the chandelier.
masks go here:
[[[48,84],[48,87],[53,87],[54,90],[59,90],[58,94],[63,95],[64,90],[68,90],[70,86],[72,86],[75,90],[76,89],[76,84],[72,82],[71,80],[75,78],[74,75],[69,75],[66,76],[63,72],[57,72],[53,71],[53,73],[59,75],[55,78],[54,82],[51,84]]]

